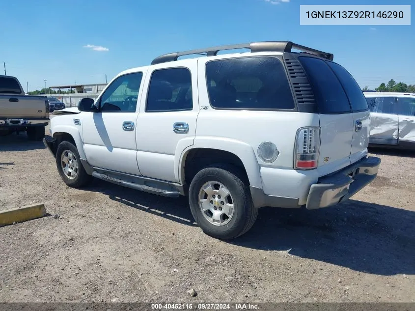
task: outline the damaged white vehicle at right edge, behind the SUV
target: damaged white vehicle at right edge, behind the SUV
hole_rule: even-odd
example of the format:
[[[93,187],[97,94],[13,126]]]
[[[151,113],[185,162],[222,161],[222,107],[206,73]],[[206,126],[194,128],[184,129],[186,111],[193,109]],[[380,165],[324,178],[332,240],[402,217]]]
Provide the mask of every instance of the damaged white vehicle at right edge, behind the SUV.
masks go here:
[[[367,93],[370,108],[371,145],[415,150],[415,94]]]

